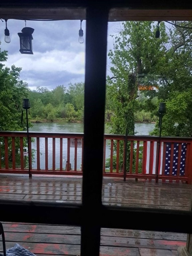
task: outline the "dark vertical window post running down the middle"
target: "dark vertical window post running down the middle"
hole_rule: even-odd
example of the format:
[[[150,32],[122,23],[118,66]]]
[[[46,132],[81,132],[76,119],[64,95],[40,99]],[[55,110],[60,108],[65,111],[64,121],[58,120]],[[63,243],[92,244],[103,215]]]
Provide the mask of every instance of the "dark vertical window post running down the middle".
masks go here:
[[[100,247],[107,23],[104,4],[87,8],[81,256],[98,256]]]

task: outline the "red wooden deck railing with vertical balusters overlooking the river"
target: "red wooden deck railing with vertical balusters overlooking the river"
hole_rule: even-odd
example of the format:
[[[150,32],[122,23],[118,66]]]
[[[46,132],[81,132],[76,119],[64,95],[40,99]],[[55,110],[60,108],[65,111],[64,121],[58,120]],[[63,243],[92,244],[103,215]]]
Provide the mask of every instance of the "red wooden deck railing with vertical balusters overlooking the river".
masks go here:
[[[125,135],[104,135],[103,176],[124,177],[124,179],[158,179],[169,180],[170,182],[184,181],[192,184],[192,161],[190,161],[192,158],[192,138],[161,137],[159,141],[157,136],[128,135],[127,161],[125,138]],[[0,173],[27,174],[29,172],[28,153],[25,152],[26,141],[26,132],[0,132]],[[160,143],[160,155],[157,168],[158,143]],[[178,158],[176,160],[178,169],[177,172],[166,172],[166,147],[169,145],[169,150],[172,152],[169,168],[173,169],[174,143],[178,145]],[[82,133],[30,132],[29,145],[31,174],[82,175]],[[182,145],[186,145],[185,152],[182,152]],[[182,154],[186,156],[181,166]],[[67,161],[66,164],[65,160]],[[125,161],[128,163],[126,170]],[[185,167],[183,167],[183,163]],[[181,167],[185,168],[183,173],[180,172]]]

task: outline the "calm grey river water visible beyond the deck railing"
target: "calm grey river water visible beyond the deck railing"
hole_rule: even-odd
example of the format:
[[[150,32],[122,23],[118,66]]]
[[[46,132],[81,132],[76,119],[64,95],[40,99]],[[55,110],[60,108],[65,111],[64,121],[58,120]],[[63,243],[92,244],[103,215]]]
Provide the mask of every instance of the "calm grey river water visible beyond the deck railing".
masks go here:
[[[155,124],[136,123],[136,135],[149,135],[149,132],[154,129]],[[34,123],[29,131],[35,132],[54,132],[54,133],[83,133],[83,124],[81,123]],[[106,127],[105,133],[109,133],[109,128]],[[32,143],[34,149],[33,168],[37,168],[36,157],[36,139]],[[60,139],[55,139],[55,168],[60,167]],[[52,138],[48,138],[48,168],[52,169]],[[63,139],[63,168],[65,168],[67,161],[67,139]],[[110,148],[106,146],[106,158],[110,156]],[[82,158],[82,148],[77,148],[77,169],[80,169]],[[74,148],[70,148],[70,163],[74,169]],[[45,138],[40,138],[40,168],[45,169]]]

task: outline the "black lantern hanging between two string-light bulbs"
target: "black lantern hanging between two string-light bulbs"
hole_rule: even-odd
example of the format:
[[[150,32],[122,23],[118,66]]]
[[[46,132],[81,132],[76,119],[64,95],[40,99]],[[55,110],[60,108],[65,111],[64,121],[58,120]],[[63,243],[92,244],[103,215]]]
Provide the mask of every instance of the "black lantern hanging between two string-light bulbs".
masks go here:
[[[32,34],[34,28],[25,27],[22,30],[22,33],[18,33],[20,38],[20,53],[24,54],[33,54],[32,51]]]

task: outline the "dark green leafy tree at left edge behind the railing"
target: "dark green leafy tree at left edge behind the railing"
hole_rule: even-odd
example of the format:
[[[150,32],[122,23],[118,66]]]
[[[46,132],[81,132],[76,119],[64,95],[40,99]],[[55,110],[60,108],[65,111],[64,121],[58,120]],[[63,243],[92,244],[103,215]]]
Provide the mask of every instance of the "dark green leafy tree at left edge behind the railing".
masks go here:
[[[6,62],[7,51],[0,49],[0,62]],[[1,131],[23,131],[26,129],[26,119],[21,124],[21,111],[23,98],[27,97],[27,84],[19,80],[21,68],[14,65],[11,68],[0,63],[0,130]],[[29,123],[29,126],[31,124]],[[11,138],[8,138],[9,161],[12,161]],[[26,142],[24,141],[24,144]],[[4,138],[0,138],[1,162],[5,160]],[[16,161],[20,161],[19,138],[15,139]]]

